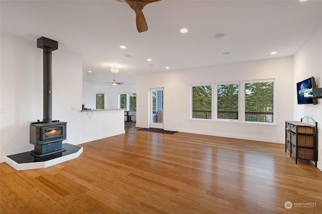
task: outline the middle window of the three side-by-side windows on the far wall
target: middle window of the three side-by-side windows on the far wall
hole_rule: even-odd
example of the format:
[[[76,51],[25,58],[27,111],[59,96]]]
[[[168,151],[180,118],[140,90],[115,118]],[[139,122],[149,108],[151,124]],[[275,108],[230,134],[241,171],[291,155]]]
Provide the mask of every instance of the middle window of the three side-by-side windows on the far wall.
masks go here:
[[[239,84],[217,84],[217,119],[238,120]]]

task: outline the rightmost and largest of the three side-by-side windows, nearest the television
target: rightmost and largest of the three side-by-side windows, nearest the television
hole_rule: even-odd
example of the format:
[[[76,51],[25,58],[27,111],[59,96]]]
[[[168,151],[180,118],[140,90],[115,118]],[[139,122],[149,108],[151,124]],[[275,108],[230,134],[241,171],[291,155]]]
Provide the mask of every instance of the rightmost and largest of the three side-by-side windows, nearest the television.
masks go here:
[[[274,80],[245,83],[245,121],[274,122]]]

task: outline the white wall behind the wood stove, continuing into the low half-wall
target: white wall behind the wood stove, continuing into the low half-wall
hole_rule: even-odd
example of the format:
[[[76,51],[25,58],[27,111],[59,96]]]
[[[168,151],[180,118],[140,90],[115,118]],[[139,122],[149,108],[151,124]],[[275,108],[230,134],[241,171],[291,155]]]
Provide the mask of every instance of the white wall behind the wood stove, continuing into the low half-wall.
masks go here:
[[[1,33],[1,162],[6,155],[34,148],[29,143],[29,124],[43,119],[42,52],[36,40]],[[124,133],[121,110],[93,115],[72,110],[82,108],[82,61],[82,56],[59,48],[59,41],[58,50],[52,52],[52,118],[67,122],[63,143],[79,144]]]

